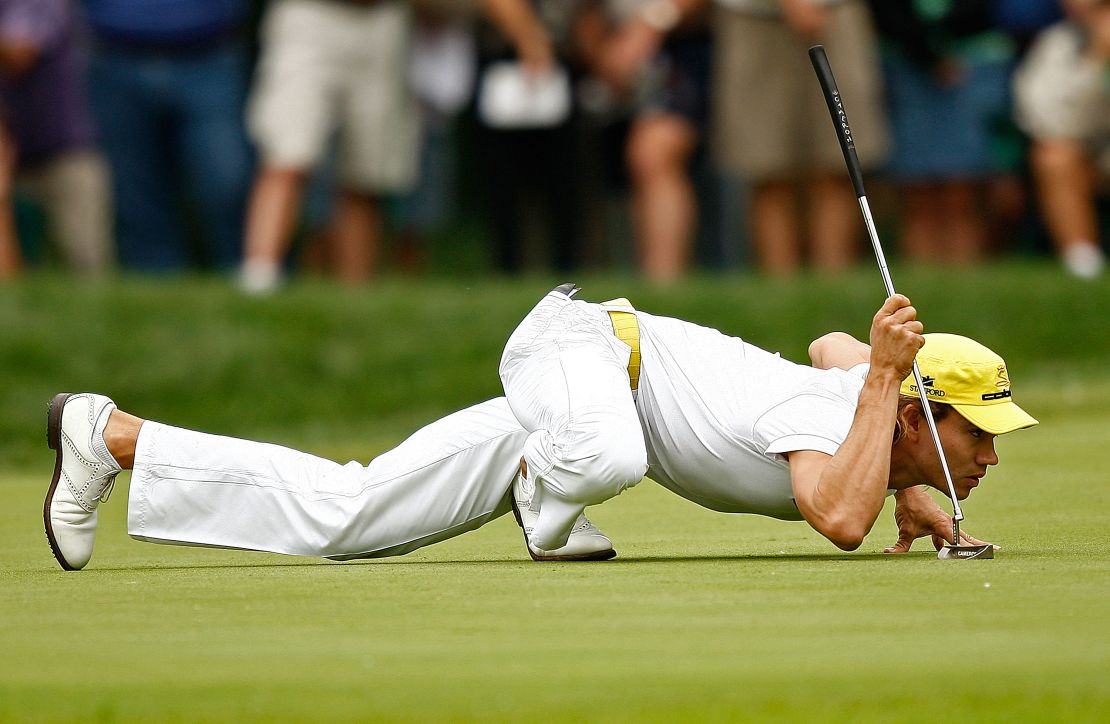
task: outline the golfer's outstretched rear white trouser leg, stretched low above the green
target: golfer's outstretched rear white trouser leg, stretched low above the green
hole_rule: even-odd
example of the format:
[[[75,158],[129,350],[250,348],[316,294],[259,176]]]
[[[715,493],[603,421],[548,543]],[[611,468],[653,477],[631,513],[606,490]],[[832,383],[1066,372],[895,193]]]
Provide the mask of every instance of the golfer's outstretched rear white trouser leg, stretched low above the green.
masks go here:
[[[335,560],[401,555],[507,512],[526,436],[504,399],[433,422],[365,466],[147,422],[128,533]]]

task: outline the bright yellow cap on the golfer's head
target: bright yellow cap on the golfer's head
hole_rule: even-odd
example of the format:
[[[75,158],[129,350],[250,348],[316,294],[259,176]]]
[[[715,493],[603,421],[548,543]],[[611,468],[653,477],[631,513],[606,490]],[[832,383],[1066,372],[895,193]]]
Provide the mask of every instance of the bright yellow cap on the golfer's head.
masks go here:
[[[917,365],[929,400],[952,405],[981,430],[1001,435],[1037,424],[1013,403],[1006,362],[975,340],[959,334],[926,334]],[[902,380],[900,392],[919,394],[912,374]]]

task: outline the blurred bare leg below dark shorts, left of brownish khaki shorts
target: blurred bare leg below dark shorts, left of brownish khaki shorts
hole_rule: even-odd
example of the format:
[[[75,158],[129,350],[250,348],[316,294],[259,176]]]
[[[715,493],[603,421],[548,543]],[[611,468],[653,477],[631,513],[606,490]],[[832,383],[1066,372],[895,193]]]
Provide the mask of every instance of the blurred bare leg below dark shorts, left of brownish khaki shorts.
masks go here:
[[[654,282],[674,282],[689,263],[697,200],[688,168],[696,145],[697,129],[673,113],[649,114],[629,131],[626,154],[639,263]]]

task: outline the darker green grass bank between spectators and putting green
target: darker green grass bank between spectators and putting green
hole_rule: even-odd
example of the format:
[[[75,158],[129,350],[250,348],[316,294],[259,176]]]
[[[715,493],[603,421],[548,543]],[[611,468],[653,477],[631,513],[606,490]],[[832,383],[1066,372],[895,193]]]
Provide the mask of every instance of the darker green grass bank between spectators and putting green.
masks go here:
[[[1019,399],[1039,378],[1079,404],[1104,385],[1088,371],[1110,359],[1110,284],[1079,284],[1037,264],[898,275],[928,329],[1003,351]],[[46,403],[81,390],[183,426],[361,456],[367,443],[501,394],[502,345],[558,281],[300,283],[261,300],[221,279],[0,285],[0,459],[40,460]],[[798,361],[830,330],[866,340],[882,300],[870,268],[831,279],[707,276],[667,290],[624,276],[579,283],[586,299],[628,296]]]

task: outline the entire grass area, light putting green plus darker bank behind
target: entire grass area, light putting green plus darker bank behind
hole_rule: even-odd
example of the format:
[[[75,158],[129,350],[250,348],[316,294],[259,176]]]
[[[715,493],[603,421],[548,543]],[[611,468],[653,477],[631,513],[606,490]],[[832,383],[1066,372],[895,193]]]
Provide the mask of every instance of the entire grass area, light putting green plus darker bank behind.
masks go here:
[[[1003,545],[993,561],[882,556],[887,514],[842,554],[645,481],[594,509],[607,563],[532,563],[506,516],[333,564],[133,542],[121,477],[90,567],[64,573],[41,527],[53,392],[365,460],[497,394],[500,345],[556,280],[265,301],[212,279],[0,286],[0,722],[1106,721],[1110,284],[1023,264],[897,276],[931,329],[1002,351],[1042,421],[999,441],[966,505],[967,529]],[[793,359],[823,331],[866,334],[881,296],[868,268],[584,285]]]

